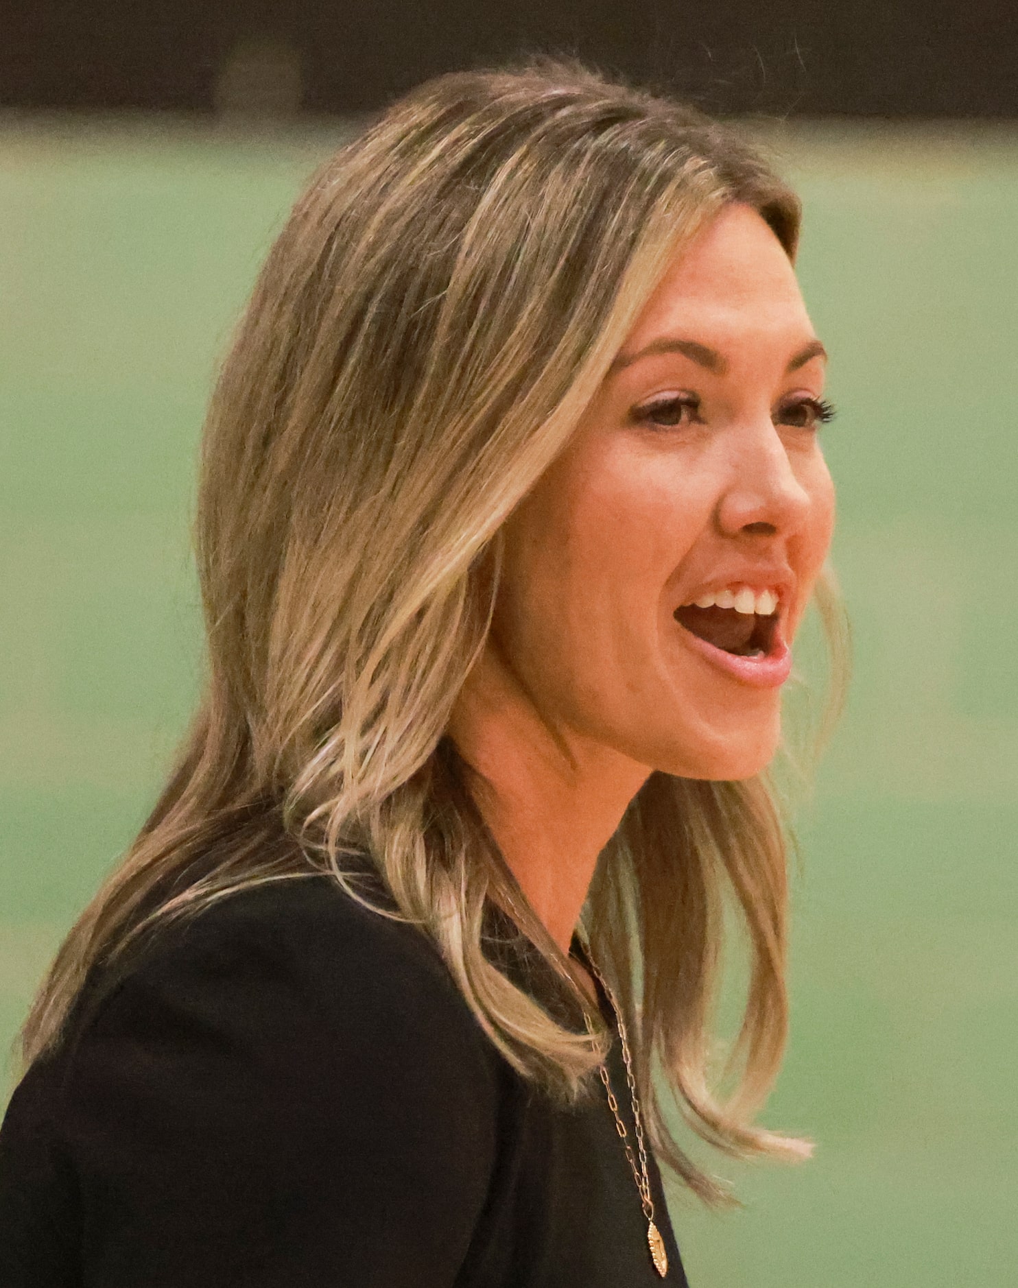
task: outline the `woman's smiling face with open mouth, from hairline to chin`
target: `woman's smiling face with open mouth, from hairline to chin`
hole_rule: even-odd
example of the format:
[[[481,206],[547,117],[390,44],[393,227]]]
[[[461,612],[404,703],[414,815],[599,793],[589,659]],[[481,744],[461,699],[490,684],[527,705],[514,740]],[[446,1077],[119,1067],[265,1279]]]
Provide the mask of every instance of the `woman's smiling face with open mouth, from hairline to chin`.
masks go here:
[[[834,519],[823,366],[777,238],[727,207],[506,524],[492,643],[557,737],[687,778],[771,760]]]

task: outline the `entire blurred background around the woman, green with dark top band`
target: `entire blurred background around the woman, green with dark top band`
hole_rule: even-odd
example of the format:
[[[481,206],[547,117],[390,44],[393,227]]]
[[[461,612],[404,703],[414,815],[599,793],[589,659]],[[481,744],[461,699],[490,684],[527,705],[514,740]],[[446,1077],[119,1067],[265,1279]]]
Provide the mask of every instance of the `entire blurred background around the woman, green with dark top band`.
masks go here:
[[[202,410],[290,202],[410,85],[576,54],[777,156],[841,408],[856,676],[764,1115],[817,1153],[719,1160],[740,1212],[675,1195],[691,1283],[1014,1288],[1018,9],[8,0],[4,28],[0,1046],[192,706]]]

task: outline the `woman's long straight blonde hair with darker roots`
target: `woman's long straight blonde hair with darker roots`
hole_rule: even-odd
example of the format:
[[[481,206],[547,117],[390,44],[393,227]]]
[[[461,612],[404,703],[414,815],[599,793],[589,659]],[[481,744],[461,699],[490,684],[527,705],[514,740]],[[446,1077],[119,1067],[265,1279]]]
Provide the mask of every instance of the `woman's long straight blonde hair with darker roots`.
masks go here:
[[[207,684],[160,801],[63,944],[23,1030],[58,1042],[86,975],[140,933],[267,881],[371,857],[479,1024],[550,1095],[594,1041],[485,952],[510,909],[567,980],[446,735],[485,643],[500,528],[568,440],[666,265],[725,204],[794,255],[799,205],[728,130],[572,64],[432,81],[298,201],[211,399],[197,562]],[[662,1097],[738,1154],[803,1157],[751,1123],[787,1027],[786,842],[763,781],[655,773],[584,913],[613,980],[658,1155],[705,1199]],[[735,1092],[711,1081],[723,893],[749,931]],[[381,911],[381,909],[380,909]]]

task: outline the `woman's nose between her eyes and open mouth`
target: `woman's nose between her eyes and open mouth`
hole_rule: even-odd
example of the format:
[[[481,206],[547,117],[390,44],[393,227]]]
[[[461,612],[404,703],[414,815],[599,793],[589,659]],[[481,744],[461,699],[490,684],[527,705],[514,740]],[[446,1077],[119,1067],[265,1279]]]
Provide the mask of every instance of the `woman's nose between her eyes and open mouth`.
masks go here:
[[[809,514],[809,492],[771,417],[745,426],[729,446],[729,482],[716,511],[722,532],[731,537],[799,532]]]

